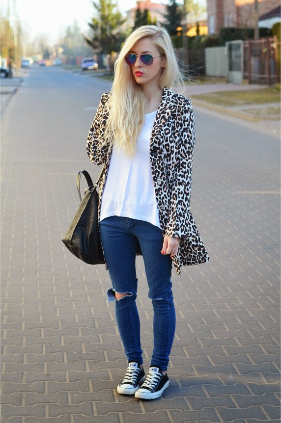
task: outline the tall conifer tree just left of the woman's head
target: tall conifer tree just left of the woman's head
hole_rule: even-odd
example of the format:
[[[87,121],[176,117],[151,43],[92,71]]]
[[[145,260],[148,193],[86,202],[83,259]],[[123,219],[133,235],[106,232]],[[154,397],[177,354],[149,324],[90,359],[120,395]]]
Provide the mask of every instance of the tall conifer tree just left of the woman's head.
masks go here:
[[[93,1],[96,16],[88,25],[93,30],[92,38],[84,36],[86,43],[96,52],[111,53],[118,51],[124,38],[121,29],[126,21],[117,9],[113,0]]]

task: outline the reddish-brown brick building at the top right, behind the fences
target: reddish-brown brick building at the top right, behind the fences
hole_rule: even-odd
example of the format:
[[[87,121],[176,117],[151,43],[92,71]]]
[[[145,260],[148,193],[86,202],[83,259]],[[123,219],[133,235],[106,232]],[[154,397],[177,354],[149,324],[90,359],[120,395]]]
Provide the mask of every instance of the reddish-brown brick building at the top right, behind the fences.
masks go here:
[[[258,16],[261,17],[280,6],[280,0],[259,0]],[[253,28],[254,0],[207,0],[208,33],[220,32],[227,26]]]

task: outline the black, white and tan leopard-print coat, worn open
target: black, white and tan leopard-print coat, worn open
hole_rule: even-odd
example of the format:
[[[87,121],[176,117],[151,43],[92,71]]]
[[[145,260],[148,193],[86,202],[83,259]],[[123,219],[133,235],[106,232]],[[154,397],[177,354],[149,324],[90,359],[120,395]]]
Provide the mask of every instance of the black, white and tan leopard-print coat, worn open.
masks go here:
[[[106,163],[99,186],[99,215],[112,153],[107,145],[101,146],[110,95],[103,94],[87,138],[90,160],[97,165]],[[181,266],[209,260],[190,211],[194,145],[195,123],[190,100],[164,88],[151,133],[150,161],[163,236],[181,238],[178,253],[172,258],[178,274]]]

